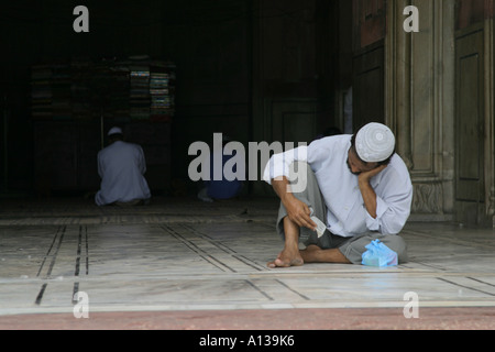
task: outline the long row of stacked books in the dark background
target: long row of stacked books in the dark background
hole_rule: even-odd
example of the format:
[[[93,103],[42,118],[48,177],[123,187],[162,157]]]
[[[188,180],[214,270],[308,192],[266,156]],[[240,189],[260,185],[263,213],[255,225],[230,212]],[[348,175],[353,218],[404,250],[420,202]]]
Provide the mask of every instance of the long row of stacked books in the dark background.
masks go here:
[[[172,121],[175,65],[148,57],[75,58],[32,67],[33,119]]]

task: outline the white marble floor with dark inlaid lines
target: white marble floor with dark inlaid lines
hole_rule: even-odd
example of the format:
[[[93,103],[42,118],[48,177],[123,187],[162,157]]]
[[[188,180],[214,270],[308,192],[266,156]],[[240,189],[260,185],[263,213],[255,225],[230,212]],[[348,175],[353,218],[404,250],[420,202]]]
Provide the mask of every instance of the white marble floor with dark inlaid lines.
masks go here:
[[[91,311],[394,307],[402,314],[409,292],[421,307],[495,307],[493,229],[411,222],[403,233],[410,262],[398,267],[271,270],[266,262],[282,248],[271,217],[227,207],[191,220],[187,209],[173,219],[37,215],[21,224],[4,217],[0,315],[72,314],[78,292]]]

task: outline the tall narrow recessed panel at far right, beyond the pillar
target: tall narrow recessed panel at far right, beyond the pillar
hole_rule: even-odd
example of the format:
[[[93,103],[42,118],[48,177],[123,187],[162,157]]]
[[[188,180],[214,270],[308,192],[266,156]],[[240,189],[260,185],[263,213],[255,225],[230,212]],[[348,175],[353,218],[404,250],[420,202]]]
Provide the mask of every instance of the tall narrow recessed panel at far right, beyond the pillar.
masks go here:
[[[479,223],[484,208],[483,29],[457,34],[455,200],[460,222]]]

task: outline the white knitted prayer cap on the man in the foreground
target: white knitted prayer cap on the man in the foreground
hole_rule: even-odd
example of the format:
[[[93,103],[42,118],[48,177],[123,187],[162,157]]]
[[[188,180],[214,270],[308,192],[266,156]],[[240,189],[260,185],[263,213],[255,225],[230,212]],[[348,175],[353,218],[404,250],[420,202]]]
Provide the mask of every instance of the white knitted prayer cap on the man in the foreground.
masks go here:
[[[363,162],[386,161],[395,148],[395,136],[385,124],[372,122],[363,127],[355,136],[355,151]]]

